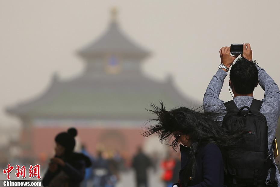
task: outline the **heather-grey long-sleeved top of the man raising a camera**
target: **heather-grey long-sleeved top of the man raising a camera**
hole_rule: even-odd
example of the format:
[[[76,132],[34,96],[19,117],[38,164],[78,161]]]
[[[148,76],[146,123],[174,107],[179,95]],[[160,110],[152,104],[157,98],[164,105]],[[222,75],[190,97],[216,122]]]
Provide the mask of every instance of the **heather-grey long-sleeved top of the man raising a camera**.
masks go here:
[[[260,113],[266,117],[268,126],[268,150],[270,150],[280,115],[280,91],[277,84],[266,71],[258,65],[256,65],[256,67],[259,71],[259,84],[264,90],[263,105],[260,109]],[[224,101],[219,99],[219,94],[226,76],[227,73],[219,69],[210,81],[203,98],[205,112],[211,112],[217,109],[226,111]],[[250,106],[253,99],[254,98],[250,96],[237,96],[233,98],[233,101],[238,109],[240,109],[242,106]],[[222,115],[220,121],[222,121],[223,117],[224,115]],[[269,179],[269,177],[270,173],[267,179]],[[277,167],[275,181],[277,182],[277,186],[280,187],[280,174]]]

